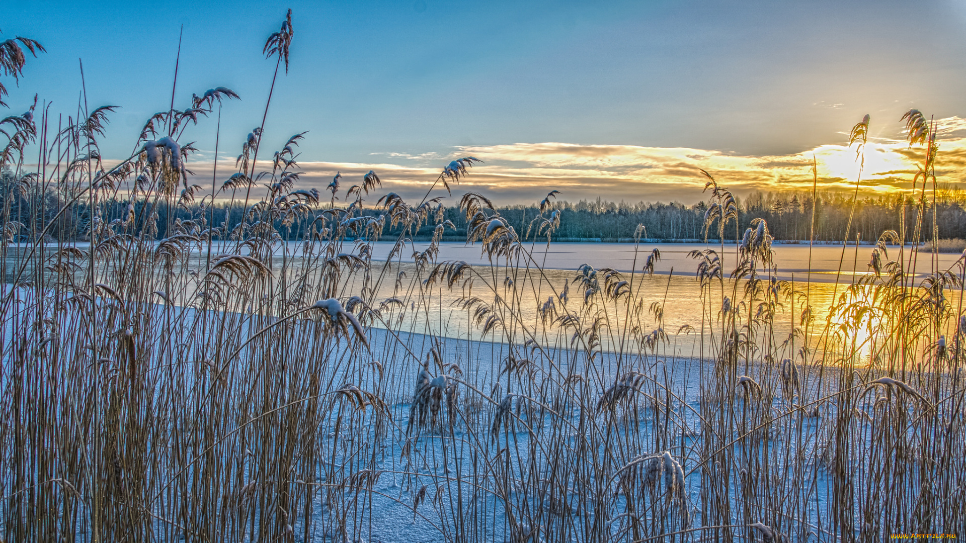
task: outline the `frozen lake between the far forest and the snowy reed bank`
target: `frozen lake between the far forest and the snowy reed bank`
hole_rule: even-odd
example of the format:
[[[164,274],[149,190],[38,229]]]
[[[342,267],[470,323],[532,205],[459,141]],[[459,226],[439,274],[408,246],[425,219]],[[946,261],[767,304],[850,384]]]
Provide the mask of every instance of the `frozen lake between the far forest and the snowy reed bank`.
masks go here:
[[[375,261],[384,261],[392,250],[392,242],[371,243],[372,258]],[[77,243],[75,245],[81,250],[86,250],[87,243]],[[717,319],[721,309],[721,299],[729,296],[737,299],[738,295],[735,285],[727,280],[731,270],[734,268],[736,247],[733,243],[722,245],[715,243],[552,243],[549,247],[546,243],[535,243],[527,245],[526,249],[532,254],[533,261],[529,262],[527,269],[526,262],[519,267],[507,269],[505,262],[495,262],[496,268],[491,267],[489,258],[482,252],[479,243],[440,243],[440,252],[436,259],[437,263],[443,261],[465,261],[473,266],[476,278],[470,283],[461,283],[457,288],[449,289],[437,284],[422,284],[420,281],[428,275],[428,269],[420,272],[419,281],[411,282],[413,273],[416,273],[413,264],[413,252],[423,251],[429,246],[426,242],[407,243],[406,248],[399,251],[392,260],[392,266],[383,270],[375,284],[371,285],[376,290],[376,300],[397,299],[407,308],[394,315],[393,319],[398,319],[391,326],[397,329],[405,329],[415,334],[429,334],[450,338],[463,339],[483,339],[480,328],[473,322],[472,311],[469,309],[459,309],[460,300],[465,300],[470,296],[483,297],[491,300],[494,296],[503,294],[499,285],[505,286],[505,281],[512,279],[519,285],[529,285],[522,289],[523,299],[519,305],[522,317],[526,323],[538,323],[538,311],[549,297],[559,294],[565,285],[569,285],[571,308],[577,308],[582,303],[582,290],[573,282],[577,274],[576,270],[586,263],[594,269],[611,268],[619,272],[636,271],[635,278],[631,281],[635,296],[639,296],[646,303],[660,303],[663,308],[662,318],[659,322],[657,318],[647,319],[647,322],[640,323],[642,328],[647,330],[663,329],[667,332],[671,341],[666,345],[668,352],[662,353],[664,356],[678,357],[697,357],[706,355],[704,345],[709,339],[698,330],[703,325],[711,326]],[[208,249],[202,245],[201,250],[193,251],[196,256],[192,257],[192,262],[188,263],[189,268],[204,270]],[[51,250],[53,247],[48,247]],[[654,275],[648,276],[641,273],[643,263],[652,249],[657,248],[661,252],[661,260],[654,267]],[[693,250],[714,249],[719,252],[724,261],[725,285],[724,291],[718,293],[716,300],[702,301],[701,288],[696,280],[697,261],[689,256]],[[804,330],[805,334],[812,340],[817,340],[826,328],[821,326],[828,323],[832,327],[845,322],[845,317],[838,315],[827,320],[829,309],[833,300],[846,292],[849,286],[862,275],[871,273],[867,263],[872,249],[872,245],[848,245],[844,252],[840,244],[815,244],[810,247],[808,244],[776,243],[773,245],[775,252],[775,265],[777,276],[782,280],[789,281],[789,286],[794,290],[807,295],[807,300],[802,298],[791,300],[787,295],[781,297],[780,303],[776,308],[776,329],[775,333],[784,335],[791,332],[793,324],[797,323],[802,311],[807,305],[811,306],[813,315],[816,318],[816,325]],[[900,251],[897,245],[888,248],[888,258],[883,258],[883,262],[897,260],[902,255],[904,266],[908,269],[910,262],[910,247],[907,245]],[[22,250],[22,249],[21,249]],[[212,247],[212,256],[223,252],[237,250],[234,245]],[[344,242],[343,246],[336,249],[345,253],[355,253],[358,246],[353,242]],[[12,251],[14,253],[14,251]],[[15,254],[15,253],[14,253]],[[14,257],[9,253],[9,257]],[[295,279],[295,274],[299,269],[303,271],[302,264],[308,265],[310,261],[317,259],[317,255],[306,258],[304,247],[300,243],[284,243],[274,247],[274,253],[270,268],[276,278],[281,278],[282,269],[285,262],[289,261],[287,270],[289,279]],[[934,270],[945,271],[952,268],[955,262],[961,258],[956,253],[940,253],[933,255],[923,251],[916,257],[916,283],[918,284],[929,273]],[[543,272],[534,272],[533,263],[536,263]],[[839,262],[841,266],[839,267]],[[293,266],[294,265],[294,266]],[[317,266],[310,265],[310,267]],[[374,269],[381,270],[383,267],[376,265]],[[430,269],[432,265],[430,266]],[[838,272],[841,270],[841,272]],[[397,284],[395,278],[400,272],[406,272],[408,277]],[[761,272],[759,270],[759,272]],[[309,272],[310,275],[316,272]],[[959,275],[959,272],[954,272]],[[625,278],[627,276],[625,275]],[[885,277],[885,274],[883,275]],[[8,277],[10,282],[11,278]],[[358,273],[351,273],[346,277],[346,283],[338,293],[338,298],[347,300],[357,296],[363,291],[364,278]],[[405,287],[402,287],[405,284]],[[531,288],[532,286],[532,288]],[[603,288],[603,282],[601,284]],[[717,288],[717,287],[716,287]],[[867,292],[867,290],[865,291]],[[860,300],[854,297],[853,301]],[[427,303],[426,300],[432,300]],[[959,298],[955,300],[953,311],[959,314]],[[184,300],[175,300],[175,303],[184,303]],[[621,322],[623,315],[618,314],[616,307],[609,304],[603,308],[613,320]],[[868,317],[867,322],[863,323],[861,329],[875,328],[877,324],[874,319],[878,317]],[[955,320],[955,319],[953,319]],[[374,322],[375,328],[385,328],[387,323]],[[797,326],[797,325],[795,325]],[[402,328],[398,328],[402,327]],[[542,335],[545,333],[543,327],[531,329],[529,333]],[[691,331],[687,331],[688,329]],[[705,327],[707,328],[707,327]],[[685,330],[682,332],[681,330]],[[948,332],[952,331],[948,330]],[[553,333],[553,332],[551,332]],[[497,340],[502,338],[495,338]],[[547,340],[555,343],[562,337],[548,337]],[[855,348],[858,349],[862,358],[874,357],[874,345],[883,338],[872,337],[871,334],[860,332],[854,338]],[[602,343],[605,348],[619,350],[619,337],[603,337]]]

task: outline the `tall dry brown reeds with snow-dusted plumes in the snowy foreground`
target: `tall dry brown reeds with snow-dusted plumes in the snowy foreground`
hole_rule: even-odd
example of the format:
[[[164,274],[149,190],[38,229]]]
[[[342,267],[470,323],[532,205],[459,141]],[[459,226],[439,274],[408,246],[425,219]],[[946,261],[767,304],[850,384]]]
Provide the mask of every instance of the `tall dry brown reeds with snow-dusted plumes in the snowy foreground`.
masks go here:
[[[290,18],[267,45],[276,73],[291,31]],[[409,536],[460,542],[966,532],[962,259],[916,283],[927,256],[882,243],[877,273],[842,285],[826,316],[808,285],[776,279],[759,220],[735,232],[734,271],[694,253],[699,310],[675,333],[644,294],[664,280],[656,250],[638,244],[638,273],[585,265],[562,284],[538,264],[549,243],[468,194],[492,266],[438,261],[440,237],[403,265],[406,236],[437,223],[435,188],[360,219],[373,174],[344,193],[355,207],[320,209],[294,187],[300,134],[259,161],[261,129],[214,188],[238,192],[245,222],[203,209],[156,240],[157,203],[204,192],[177,142],[216,95],[157,116],[103,174],[103,111],[38,121],[56,153],[16,189],[65,205],[5,232],[43,240],[70,214],[91,243],[2,248],[4,540],[357,541],[410,522]],[[476,161],[451,162],[440,188]],[[726,233],[733,197],[708,188],[706,226]],[[124,216],[83,214],[126,190],[138,206]],[[542,208],[535,231],[556,217]],[[372,259],[386,223],[405,226],[396,264]],[[470,340],[431,318],[445,293]],[[675,356],[681,334],[699,360]]]

